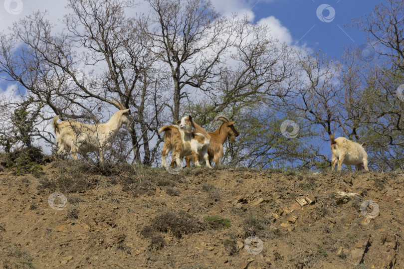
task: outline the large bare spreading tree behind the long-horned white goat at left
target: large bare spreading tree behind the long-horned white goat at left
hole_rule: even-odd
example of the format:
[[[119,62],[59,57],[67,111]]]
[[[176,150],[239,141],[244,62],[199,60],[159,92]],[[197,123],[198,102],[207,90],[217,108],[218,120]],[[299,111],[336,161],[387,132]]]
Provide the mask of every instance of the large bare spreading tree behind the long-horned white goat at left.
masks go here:
[[[12,34],[0,37],[0,72],[67,118],[98,123],[105,114],[104,102],[118,98],[132,109],[135,120],[134,161],[150,164],[159,143],[152,149],[149,143],[165,102],[156,90],[161,85],[146,48],[147,36],[138,30],[137,20],[125,16],[125,9],[133,6],[131,0],[70,0],[72,12],[64,17],[65,29],[59,33],[52,32],[45,13],[33,13],[14,23]]]

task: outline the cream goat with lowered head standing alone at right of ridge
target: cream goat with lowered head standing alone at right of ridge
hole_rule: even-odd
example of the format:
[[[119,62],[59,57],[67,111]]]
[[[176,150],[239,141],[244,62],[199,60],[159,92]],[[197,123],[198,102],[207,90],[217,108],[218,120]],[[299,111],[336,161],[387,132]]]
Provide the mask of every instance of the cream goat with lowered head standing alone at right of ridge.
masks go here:
[[[334,170],[335,164],[338,162],[338,171],[341,171],[342,164],[355,165],[357,170],[362,170],[362,164],[366,171],[368,169],[368,154],[366,154],[364,146],[367,143],[358,144],[357,142],[348,140],[345,137],[337,137],[330,134],[330,146],[333,152],[331,160],[331,170]]]

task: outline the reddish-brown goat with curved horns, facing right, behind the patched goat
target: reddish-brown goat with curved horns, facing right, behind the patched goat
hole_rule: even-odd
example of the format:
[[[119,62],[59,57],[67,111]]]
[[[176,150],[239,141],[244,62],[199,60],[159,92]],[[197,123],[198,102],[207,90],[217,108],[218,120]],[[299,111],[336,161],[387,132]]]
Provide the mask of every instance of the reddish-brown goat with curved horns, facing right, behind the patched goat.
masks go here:
[[[216,121],[222,121],[223,123],[213,132],[206,133],[206,131],[196,124],[195,131],[203,134],[204,136],[210,136],[210,144],[207,147],[207,154],[209,156],[209,163],[212,164],[214,161],[215,165],[220,164],[220,160],[223,157],[223,144],[226,141],[227,137],[229,137],[230,142],[235,142],[235,137],[239,135],[237,129],[234,127],[234,122],[230,122],[230,120],[225,116],[218,116],[212,123]],[[206,134],[204,134],[204,133]],[[195,160],[192,158],[193,156],[185,157],[185,161],[187,162],[187,167],[191,167],[191,160]],[[200,156],[201,158],[201,156]],[[174,165],[174,161],[171,162],[171,166]]]

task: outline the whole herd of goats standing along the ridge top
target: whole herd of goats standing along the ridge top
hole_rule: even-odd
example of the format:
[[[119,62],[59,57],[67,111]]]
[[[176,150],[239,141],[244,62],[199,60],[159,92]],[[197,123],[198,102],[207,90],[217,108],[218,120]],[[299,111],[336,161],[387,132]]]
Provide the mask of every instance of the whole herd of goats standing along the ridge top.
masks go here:
[[[130,130],[133,122],[126,109],[117,99],[107,102],[116,106],[119,111],[116,112],[105,124],[83,124],[75,121],[62,121],[57,123],[60,115],[53,118],[52,125],[56,134],[58,145],[57,154],[67,150],[71,151],[73,158],[77,160],[77,153],[85,156],[87,152],[98,151],[100,161],[103,161],[103,149],[112,145],[112,135],[116,134],[122,125],[126,125]],[[223,157],[223,143],[229,137],[230,142],[235,142],[235,137],[239,135],[234,127],[234,122],[225,116],[218,116],[213,122],[222,121],[223,123],[213,132],[207,133],[201,126],[195,123],[192,116],[183,117],[178,121],[178,125],[168,125],[159,129],[159,134],[164,132],[164,145],[162,150],[162,165],[172,173],[178,173],[182,170],[182,161],[185,157],[187,167],[190,167],[190,161],[194,161],[196,166],[201,166],[199,160],[202,158],[206,166],[211,168],[211,164],[220,164]],[[356,165],[357,170],[362,170],[362,165],[366,171],[368,169],[368,155],[364,149],[366,143],[362,145],[351,141],[345,137],[334,138],[330,135],[330,146],[333,153],[331,168],[334,170],[338,163],[338,170],[341,170],[342,163],[346,165]],[[172,162],[170,166],[166,163],[166,156],[172,151]],[[176,168],[173,168],[176,164]]]

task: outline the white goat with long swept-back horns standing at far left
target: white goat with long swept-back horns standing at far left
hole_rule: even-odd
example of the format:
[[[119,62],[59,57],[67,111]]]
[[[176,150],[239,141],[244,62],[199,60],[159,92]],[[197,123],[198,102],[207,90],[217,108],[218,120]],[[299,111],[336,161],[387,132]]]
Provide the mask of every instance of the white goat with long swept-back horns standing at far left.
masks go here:
[[[111,119],[105,124],[83,124],[75,121],[63,121],[57,123],[60,115],[53,118],[52,125],[56,134],[58,144],[57,154],[62,150],[71,151],[73,158],[77,160],[77,153],[85,155],[87,152],[98,151],[100,161],[104,160],[104,149],[112,144],[112,137],[121,128],[122,125],[127,125],[128,130],[132,123],[129,109],[118,100],[116,102],[108,101],[115,105],[120,110],[112,115]]]

